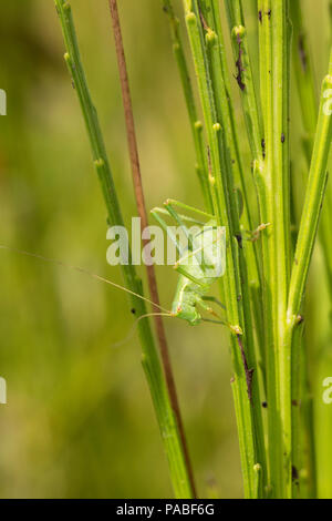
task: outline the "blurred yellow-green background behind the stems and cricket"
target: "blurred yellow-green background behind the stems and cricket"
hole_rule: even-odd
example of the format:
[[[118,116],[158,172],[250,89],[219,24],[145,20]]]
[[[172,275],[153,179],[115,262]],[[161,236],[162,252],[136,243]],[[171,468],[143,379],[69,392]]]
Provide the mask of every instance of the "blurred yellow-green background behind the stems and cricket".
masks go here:
[[[107,1],[71,3],[129,224],[135,204]],[[328,60],[329,25],[322,16],[328,0],[303,4],[319,79]],[[118,7],[147,206],[174,197],[201,207],[160,1],[120,0]],[[62,60],[53,1],[11,0],[0,9],[0,88],[8,94],[8,115],[0,119],[0,243],[121,283],[120,270],[106,264],[106,212]],[[297,103],[293,96],[294,157],[301,139]],[[249,155],[246,167],[250,175]],[[294,172],[301,168],[295,161]],[[308,338],[318,429],[325,430],[332,406],[321,405],[321,381],[332,376],[332,362],[330,374],[328,365],[319,371],[314,364],[315,354],[331,344],[322,269],[318,248]],[[135,337],[114,346],[133,325],[126,295],[74,270],[1,249],[0,272],[0,376],[8,384],[8,405],[0,406],[0,497],[170,497],[139,346]],[[167,266],[158,275],[160,300],[168,308],[176,277]],[[241,497],[227,338],[218,326],[166,325],[200,494],[214,489],[222,498]],[[322,454],[322,474],[331,481]]]

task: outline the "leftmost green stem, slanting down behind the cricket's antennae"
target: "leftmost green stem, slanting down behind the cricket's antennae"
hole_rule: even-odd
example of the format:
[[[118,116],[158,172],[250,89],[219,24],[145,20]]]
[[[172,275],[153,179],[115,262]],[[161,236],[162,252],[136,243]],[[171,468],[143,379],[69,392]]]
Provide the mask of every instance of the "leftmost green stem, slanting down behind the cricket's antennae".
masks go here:
[[[55,0],[55,7],[59,13],[66,48],[64,55],[65,62],[72,75],[73,85],[79,96],[92,149],[93,162],[101,182],[108,218],[112,225],[123,226],[123,217],[115,192],[111,166],[106,155],[97,112],[91,99],[81,61],[71,6],[65,0]],[[142,282],[137,277],[136,270],[131,264],[131,259],[132,255],[129,253],[128,265],[122,266],[125,285],[132,292],[143,295]],[[146,315],[145,303],[134,295],[132,296],[132,306],[135,309],[137,317]],[[190,499],[194,497],[194,492],[190,486],[183,442],[148,320],[139,320],[137,328],[143,351],[143,367],[146,374],[168,459],[174,492],[177,498]]]

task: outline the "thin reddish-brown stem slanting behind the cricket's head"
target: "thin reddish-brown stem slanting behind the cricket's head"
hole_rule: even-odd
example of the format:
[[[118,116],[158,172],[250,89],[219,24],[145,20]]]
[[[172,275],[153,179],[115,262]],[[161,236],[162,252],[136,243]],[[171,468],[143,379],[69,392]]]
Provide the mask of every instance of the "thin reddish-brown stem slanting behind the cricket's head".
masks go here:
[[[124,53],[117,2],[116,0],[108,0],[108,3],[110,3],[110,9],[111,9],[112,22],[113,22],[117,64],[118,64],[120,80],[121,80],[121,86],[122,86],[122,95],[123,95],[123,104],[124,104],[124,111],[125,111],[125,121],[126,121],[126,129],[127,129],[127,140],[128,140],[128,149],[129,149],[131,163],[132,163],[135,197],[136,197],[138,215],[141,217],[141,226],[142,226],[142,229],[145,229],[148,226],[148,221],[147,221],[147,213],[146,213],[143,184],[142,184],[132,96],[131,96],[131,90],[129,90],[129,81],[128,81],[128,74],[127,74],[127,68],[126,68],[126,59],[125,59],[125,53]],[[144,242],[144,244],[147,244],[147,243],[148,243],[148,239]],[[147,266],[146,269],[147,269],[151,298],[152,300],[154,300],[155,303],[159,305],[159,296],[158,296],[154,266]],[[177,420],[177,427],[178,427],[178,431],[179,431],[181,442],[183,442],[183,449],[184,449],[184,456],[186,460],[188,477],[190,480],[194,496],[197,497],[195,480],[194,480],[194,472],[193,472],[193,468],[190,463],[189,451],[188,451],[186,436],[185,436],[185,429],[184,429],[184,425],[181,420],[164,324],[163,324],[163,319],[160,316],[155,316],[154,319],[155,319],[155,325],[156,325],[156,330],[157,330],[157,336],[158,336],[158,343],[160,347],[160,355],[162,355],[166,384],[167,384],[167,388],[169,392],[169,399],[172,402],[173,411]]]

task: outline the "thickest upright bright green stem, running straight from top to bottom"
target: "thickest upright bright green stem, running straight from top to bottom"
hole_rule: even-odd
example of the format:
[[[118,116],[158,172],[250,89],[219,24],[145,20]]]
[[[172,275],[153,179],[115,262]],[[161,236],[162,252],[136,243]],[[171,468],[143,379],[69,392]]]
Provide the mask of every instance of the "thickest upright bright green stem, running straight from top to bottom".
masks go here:
[[[280,497],[292,498],[292,406],[291,345],[284,343],[287,299],[291,265],[290,170],[289,170],[289,99],[290,99],[290,28],[289,0],[272,0],[272,78],[273,78],[273,187],[276,239],[276,347],[280,381],[280,419],[283,487]]]

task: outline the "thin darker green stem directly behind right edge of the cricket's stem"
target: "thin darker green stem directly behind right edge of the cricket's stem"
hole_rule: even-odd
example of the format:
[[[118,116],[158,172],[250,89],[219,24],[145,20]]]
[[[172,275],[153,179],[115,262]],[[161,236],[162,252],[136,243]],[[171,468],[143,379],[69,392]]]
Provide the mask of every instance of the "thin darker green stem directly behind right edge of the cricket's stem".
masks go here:
[[[247,187],[245,185],[245,178],[242,173],[241,159],[239,154],[238,139],[235,130],[235,119],[232,104],[230,99],[230,86],[228,85],[228,71],[225,60],[225,49],[224,49],[224,39],[222,30],[220,23],[220,12],[218,4],[210,0],[206,0],[204,7],[201,8],[201,13],[205,17],[205,31],[206,31],[206,41],[207,41],[207,57],[210,69],[212,94],[216,104],[216,115],[218,122],[221,124],[221,136],[222,136],[222,150],[224,150],[224,164],[225,167],[225,182],[224,190],[226,186],[227,193],[229,194],[230,201],[230,219],[232,227],[235,229],[236,236],[239,236],[240,224],[239,224],[239,213],[234,204],[232,194],[235,194],[235,175],[236,172],[241,178],[241,188],[247,193]],[[217,28],[216,32],[212,28]],[[235,145],[236,143],[236,145]],[[245,208],[249,208],[248,198],[245,200]],[[246,223],[249,225],[250,215],[249,210],[246,213]],[[250,225],[249,225],[250,226]],[[241,290],[242,290],[242,308],[243,308],[243,320],[246,329],[246,347],[247,347],[247,358],[248,365],[253,369],[255,377],[252,379],[252,418],[255,423],[255,433],[256,433],[256,447],[257,447],[257,459],[260,463],[260,481],[263,483],[263,480],[267,478],[267,468],[266,468],[266,451],[264,451],[264,437],[262,429],[262,416],[261,416],[261,399],[259,390],[259,379],[258,379],[258,364],[255,353],[255,341],[253,341],[253,329],[252,329],[252,319],[251,319],[251,306],[250,306],[250,293],[249,293],[249,280],[255,283],[251,277],[256,277],[255,285],[255,297],[257,297],[256,304],[253,306],[253,316],[260,315],[262,309],[260,307],[260,275],[258,270],[258,260],[255,256],[255,251],[251,247],[247,247],[246,241],[241,241],[239,247],[239,276],[241,280]],[[238,245],[237,245],[238,246]],[[252,246],[252,244],[250,245]],[[246,258],[245,258],[246,255]],[[248,266],[248,269],[247,269]],[[252,289],[252,287],[251,287]],[[261,333],[261,331],[259,331]]]

